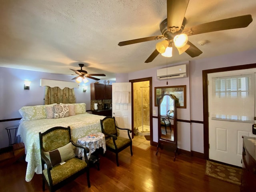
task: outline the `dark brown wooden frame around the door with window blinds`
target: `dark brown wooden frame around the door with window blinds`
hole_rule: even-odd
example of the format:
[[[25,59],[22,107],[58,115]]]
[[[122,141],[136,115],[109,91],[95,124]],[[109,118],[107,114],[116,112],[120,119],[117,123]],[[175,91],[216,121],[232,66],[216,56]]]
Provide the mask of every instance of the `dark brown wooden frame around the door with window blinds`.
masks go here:
[[[242,69],[256,68],[256,63],[239,66],[230,66],[202,71],[203,79],[203,116],[204,116],[204,158],[209,159],[209,121],[208,121],[208,73],[234,71]]]

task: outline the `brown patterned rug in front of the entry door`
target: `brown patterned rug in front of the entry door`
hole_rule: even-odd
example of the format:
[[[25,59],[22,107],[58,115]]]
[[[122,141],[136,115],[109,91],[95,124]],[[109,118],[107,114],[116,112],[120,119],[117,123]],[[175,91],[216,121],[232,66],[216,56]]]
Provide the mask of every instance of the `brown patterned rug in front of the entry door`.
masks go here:
[[[236,185],[241,184],[242,169],[228,165],[206,161],[206,175]]]

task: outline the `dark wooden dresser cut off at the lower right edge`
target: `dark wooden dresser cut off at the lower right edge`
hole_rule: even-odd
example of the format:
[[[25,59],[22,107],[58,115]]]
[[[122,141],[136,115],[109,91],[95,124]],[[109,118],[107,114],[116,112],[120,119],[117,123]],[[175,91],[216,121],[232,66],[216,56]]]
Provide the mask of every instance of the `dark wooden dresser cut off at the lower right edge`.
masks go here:
[[[256,138],[242,136],[242,192],[256,191]]]

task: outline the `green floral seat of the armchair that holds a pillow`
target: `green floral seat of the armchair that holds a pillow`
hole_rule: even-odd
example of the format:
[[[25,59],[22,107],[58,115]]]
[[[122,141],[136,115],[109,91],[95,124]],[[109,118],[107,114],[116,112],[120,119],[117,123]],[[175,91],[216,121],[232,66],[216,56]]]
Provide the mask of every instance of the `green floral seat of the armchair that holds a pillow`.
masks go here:
[[[86,162],[78,159],[78,158],[72,158],[70,160],[67,160],[65,164],[63,165],[56,165],[50,170],[51,176],[52,176],[52,184],[56,185],[57,183],[65,180],[66,178],[69,178],[76,172],[84,169],[87,167]],[[43,174],[50,185],[47,169],[43,170]]]

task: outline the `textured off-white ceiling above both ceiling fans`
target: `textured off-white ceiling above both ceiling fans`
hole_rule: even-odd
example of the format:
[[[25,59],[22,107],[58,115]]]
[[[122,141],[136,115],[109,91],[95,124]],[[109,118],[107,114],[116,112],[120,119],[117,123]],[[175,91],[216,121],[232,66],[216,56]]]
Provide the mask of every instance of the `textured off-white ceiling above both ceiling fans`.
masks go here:
[[[255,0],[190,0],[186,27],[251,14],[247,28],[189,36],[202,54],[191,58],[174,49],[168,64],[256,49]],[[166,65],[160,54],[144,63],[156,41],[118,46],[118,42],[161,35],[166,0],[0,0],[0,66],[74,74],[85,64],[88,73],[113,80],[127,73]],[[204,46],[200,40],[207,40]]]

